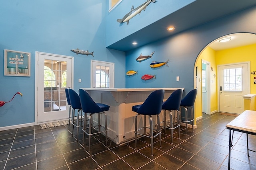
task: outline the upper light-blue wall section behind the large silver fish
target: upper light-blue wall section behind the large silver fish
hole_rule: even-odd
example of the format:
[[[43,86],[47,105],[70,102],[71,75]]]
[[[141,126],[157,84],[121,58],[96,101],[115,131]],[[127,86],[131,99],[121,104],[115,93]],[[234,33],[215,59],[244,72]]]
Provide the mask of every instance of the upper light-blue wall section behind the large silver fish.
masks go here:
[[[155,3],[148,5],[146,11],[142,11],[140,15],[132,18],[132,20],[129,21],[129,25],[127,25],[126,23],[119,23],[116,20],[122,19],[130,12],[132,5],[135,9],[146,2],[146,0],[123,0],[116,8],[107,14],[106,21],[108,27],[106,27],[106,47],[194,1],[195,0],[156,0]]]

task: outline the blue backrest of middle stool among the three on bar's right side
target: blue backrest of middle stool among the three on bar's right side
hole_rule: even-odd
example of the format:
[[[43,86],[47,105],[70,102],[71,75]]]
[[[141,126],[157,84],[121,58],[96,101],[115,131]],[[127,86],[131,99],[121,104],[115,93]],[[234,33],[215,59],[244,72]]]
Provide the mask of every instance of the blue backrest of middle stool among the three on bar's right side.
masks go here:
[[[183,89],[175,90],[171,96],[163,103],[163,110],[179,110]]]

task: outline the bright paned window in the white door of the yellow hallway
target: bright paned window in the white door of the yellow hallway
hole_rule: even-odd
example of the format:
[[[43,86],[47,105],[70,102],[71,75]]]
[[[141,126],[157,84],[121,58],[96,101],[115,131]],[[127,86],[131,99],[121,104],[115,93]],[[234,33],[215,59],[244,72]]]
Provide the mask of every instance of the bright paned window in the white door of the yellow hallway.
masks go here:
[[[223,70],[224,90],[242,91],[242,68]]]

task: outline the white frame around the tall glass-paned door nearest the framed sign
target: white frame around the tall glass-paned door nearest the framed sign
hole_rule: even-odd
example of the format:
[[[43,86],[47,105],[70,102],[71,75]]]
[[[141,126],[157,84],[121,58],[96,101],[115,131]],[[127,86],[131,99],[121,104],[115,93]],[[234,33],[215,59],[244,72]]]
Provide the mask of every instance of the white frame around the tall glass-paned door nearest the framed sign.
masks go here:
[[[57,54],[51,54],[51,53],[44,53],[44,52],[38,52],[36,51],[35,55],[35,125],[38,125],[38,56],[39,55],[53,55],[56,57],[66,57],[70,58],[72,60],[71,63],[71,70],[72,70],[72,76],[71,76],[71,87],[74,87],[74,57],[65,56],[65,55],[57,55]]]

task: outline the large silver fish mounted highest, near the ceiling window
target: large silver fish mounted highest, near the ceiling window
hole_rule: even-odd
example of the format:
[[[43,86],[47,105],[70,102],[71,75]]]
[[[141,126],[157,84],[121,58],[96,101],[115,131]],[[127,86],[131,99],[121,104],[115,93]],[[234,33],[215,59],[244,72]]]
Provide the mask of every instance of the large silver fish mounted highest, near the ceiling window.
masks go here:
[[[140,14],[140,12],[142,12],[142,10],[146,10],[148,4],[150,4],[151,2],[156,2],[156,0],[147,0],[146,2],[144,2],[142,5],[138,6],[137,8],[134,9],[134,7],[132,6],[132,9],[129,13],[127,13],[124,18],[122,19],[117,19],[116,21],[122,23],[122,22],[126,22],[127,25],[129,24],[129,20],[132,19],[134,16],[136,16],[137,14]]]

